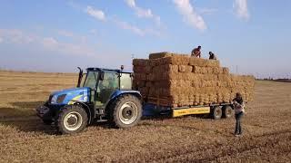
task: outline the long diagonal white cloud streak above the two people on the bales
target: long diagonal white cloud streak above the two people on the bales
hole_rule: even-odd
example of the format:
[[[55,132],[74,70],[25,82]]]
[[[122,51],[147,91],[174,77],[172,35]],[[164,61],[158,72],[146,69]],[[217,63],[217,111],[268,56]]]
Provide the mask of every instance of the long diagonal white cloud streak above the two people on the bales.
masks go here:
[[[191,26],[204,31],[207,26],[201,15],[197,14],[189,0],[173,0],[179,13],[184,16],[184,21]]]

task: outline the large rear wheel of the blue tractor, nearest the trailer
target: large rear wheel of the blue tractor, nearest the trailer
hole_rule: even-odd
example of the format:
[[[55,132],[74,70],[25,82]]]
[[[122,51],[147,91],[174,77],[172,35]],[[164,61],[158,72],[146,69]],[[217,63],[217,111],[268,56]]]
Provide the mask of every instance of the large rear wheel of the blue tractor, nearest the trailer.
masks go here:
[[[142,117],[141,101],[134,95],[122,95],[110,105],[110,121],[115,128],[135,126]]]

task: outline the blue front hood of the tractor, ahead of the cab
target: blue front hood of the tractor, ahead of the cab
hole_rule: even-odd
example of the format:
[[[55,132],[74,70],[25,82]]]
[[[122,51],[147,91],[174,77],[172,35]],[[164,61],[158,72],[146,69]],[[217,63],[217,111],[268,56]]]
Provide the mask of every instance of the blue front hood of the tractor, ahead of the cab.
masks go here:
[[[90,88],[73,88],[63,91],[55,91],[50,95],[49,103],[57,105],[74,104],[77,101],[89,101]]]

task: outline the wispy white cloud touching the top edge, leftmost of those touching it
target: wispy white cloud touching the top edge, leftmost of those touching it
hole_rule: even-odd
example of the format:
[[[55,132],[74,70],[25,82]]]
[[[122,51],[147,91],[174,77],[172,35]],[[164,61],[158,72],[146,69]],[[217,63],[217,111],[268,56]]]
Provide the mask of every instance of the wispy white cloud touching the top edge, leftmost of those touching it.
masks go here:
[[[135,14],[140,18],[150,18],[155,21],[157,25],[161,24],[161,18],[158,15],[152,13],[151,9],[145,9],[137,6],[135,0],[125,0],[125,3],[132,9],[135,10]]]

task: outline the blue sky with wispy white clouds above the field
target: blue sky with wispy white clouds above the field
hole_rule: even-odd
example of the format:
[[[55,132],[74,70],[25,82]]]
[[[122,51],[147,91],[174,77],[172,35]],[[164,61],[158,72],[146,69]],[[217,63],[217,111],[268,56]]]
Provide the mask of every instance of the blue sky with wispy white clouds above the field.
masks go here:
[[[0,69],[132,68],[149,53],[216,53],[231,72],[291,78],[291,1],[0,0]]]

